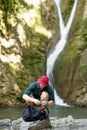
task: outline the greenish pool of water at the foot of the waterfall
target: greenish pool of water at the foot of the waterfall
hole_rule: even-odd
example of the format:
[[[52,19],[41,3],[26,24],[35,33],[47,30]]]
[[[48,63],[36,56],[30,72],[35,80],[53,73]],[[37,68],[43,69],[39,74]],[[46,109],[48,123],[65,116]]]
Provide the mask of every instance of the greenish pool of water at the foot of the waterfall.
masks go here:
[[[10,118],[12,120],[22,116],[24,107],[0,107],[0,119]],[[87,118],[87,108],[58,106],[49,107],[50,117],[67,117],[72,115],[75,119]]]

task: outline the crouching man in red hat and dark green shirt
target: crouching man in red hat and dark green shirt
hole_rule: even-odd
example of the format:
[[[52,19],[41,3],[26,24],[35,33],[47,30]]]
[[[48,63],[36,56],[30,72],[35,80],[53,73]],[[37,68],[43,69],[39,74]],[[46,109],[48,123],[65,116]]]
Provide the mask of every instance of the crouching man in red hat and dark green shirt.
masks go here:
[[[54,105],[54,92],[52,87],[49,86],[49,78],[43,75],[38,81],[29,85],[24,91],[23,99],[30,106],[33,106],[33,104],[41,105],[42,107]]]

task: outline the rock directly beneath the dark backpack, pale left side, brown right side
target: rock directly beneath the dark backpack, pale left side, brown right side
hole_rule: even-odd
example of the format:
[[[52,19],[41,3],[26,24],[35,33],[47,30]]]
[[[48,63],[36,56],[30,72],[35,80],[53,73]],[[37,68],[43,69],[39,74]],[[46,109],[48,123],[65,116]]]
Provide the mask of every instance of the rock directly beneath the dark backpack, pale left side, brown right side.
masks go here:
[[[34,121],[34,122],[25,122],[22,118],[15,120],[12,122],[12,129],[13,130],[40,130],[44,128],[50,128],[50,120],[43,120],[43,121]]]

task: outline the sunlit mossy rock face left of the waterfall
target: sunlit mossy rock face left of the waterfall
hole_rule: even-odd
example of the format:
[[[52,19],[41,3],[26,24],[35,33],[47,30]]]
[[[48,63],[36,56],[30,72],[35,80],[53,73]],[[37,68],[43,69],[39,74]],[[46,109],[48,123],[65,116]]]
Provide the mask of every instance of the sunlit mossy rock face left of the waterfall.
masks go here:
[[[52,0],[0,5],[0,105],[13,106],[21,104],[24,89],[45,74],[48,44],[57,41],[57,10]]]

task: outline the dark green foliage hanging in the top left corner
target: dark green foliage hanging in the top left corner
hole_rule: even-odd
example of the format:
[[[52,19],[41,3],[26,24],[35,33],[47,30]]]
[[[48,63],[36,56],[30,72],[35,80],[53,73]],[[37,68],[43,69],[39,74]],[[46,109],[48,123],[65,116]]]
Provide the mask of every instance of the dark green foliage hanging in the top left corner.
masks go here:
[[[24,0],[1,0],[0,1],[0,10],[3,13],[3,22],[7,31],[10,30],[11,25],[9,19],[11,16],[16,16],[17,12],[20,9],[29,9],[32,8]]]

